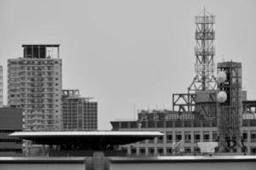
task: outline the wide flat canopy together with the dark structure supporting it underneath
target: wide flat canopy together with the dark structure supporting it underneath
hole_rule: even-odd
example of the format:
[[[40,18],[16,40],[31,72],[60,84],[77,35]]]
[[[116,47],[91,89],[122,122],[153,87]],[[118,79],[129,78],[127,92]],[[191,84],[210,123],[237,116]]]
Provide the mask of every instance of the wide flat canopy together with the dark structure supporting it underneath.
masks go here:
[[[143,139],[162,136],[159,132],[17,132],[9,136],[49,145],[49,156],[88,156],[96,150],[113,153],[114,145],[131,144]]]

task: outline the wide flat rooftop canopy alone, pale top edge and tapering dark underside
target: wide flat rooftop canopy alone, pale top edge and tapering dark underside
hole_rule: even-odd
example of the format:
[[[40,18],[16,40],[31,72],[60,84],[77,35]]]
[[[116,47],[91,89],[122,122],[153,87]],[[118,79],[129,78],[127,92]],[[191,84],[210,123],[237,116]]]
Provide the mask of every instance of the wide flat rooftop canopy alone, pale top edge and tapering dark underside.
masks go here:
[[[114,144],[131,144],[144,139],[163,136],[160,132],[148,131],[61,131],[61,132],[16,132],[9,136],[31,140],[36,144],[76,145],[80,148],[105,148]]]

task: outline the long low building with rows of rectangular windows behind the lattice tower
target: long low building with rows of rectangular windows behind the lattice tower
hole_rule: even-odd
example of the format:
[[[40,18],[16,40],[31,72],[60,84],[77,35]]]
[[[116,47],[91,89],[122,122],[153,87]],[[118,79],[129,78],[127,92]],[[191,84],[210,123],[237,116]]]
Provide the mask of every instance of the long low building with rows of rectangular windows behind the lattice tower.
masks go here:
[[[147,115],[143,113],[143,120],[139,118],[137,121],[111,122],[114,131],[145,130],[165,133],[164,137],[123,145],[122,149],[125,150],[127,156],[175,156],[173,143],[180,141],[183,143],[181,146],[183,155],[194,156],[200,155],[198,142],[218,141],[217,119],[182,120],[178,118],[178,114],[175,118],[173,116],[175,114],[166,116],[168,115],[166,112],[168,111],[150,111]],[[253,115],[243,115],[241,132],[242,144],[246,146],[242,154],[256,155],[256,119]]]

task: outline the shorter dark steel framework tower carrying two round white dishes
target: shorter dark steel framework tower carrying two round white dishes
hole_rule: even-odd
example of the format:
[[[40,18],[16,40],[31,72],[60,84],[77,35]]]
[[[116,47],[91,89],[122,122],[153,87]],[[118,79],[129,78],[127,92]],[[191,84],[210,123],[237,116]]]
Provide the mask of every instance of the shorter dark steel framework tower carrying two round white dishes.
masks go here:
[[[221,151],[241,151],[242,99],[241,63],[218,63],[218,71],[224,71],[227,80],[218,83],[218,91],[224,91],[227,99],[217,104],[218,135]]]

